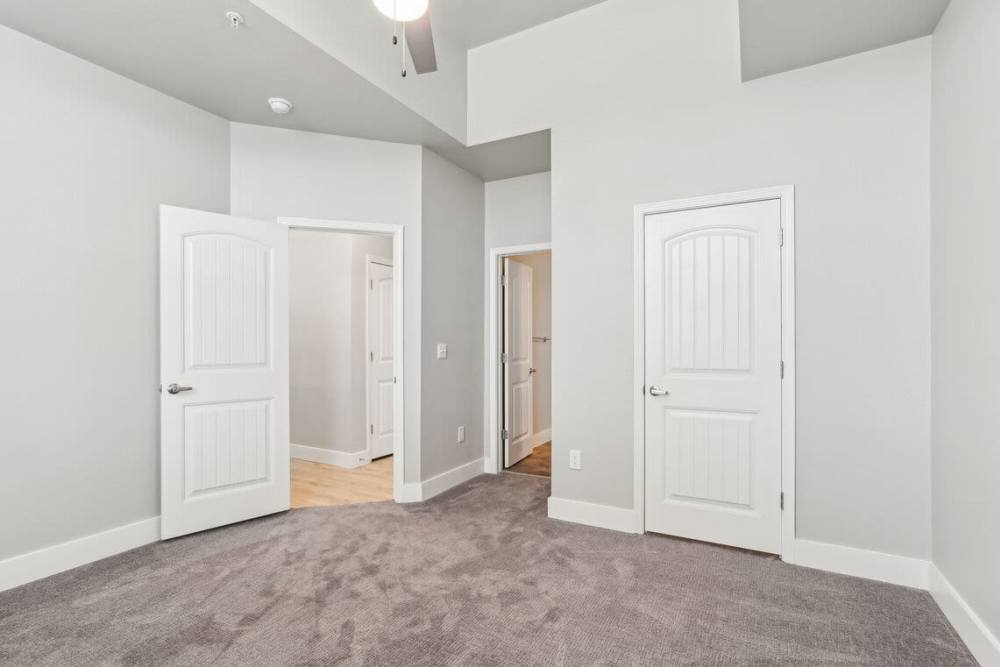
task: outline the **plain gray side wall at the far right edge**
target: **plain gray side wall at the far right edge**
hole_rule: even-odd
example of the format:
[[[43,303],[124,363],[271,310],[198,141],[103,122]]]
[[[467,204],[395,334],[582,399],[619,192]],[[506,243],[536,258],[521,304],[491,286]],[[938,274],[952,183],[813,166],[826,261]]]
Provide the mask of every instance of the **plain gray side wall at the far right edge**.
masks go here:
[[[934,563],[1000,635],[1000,3],[952,0],[933,69]]]

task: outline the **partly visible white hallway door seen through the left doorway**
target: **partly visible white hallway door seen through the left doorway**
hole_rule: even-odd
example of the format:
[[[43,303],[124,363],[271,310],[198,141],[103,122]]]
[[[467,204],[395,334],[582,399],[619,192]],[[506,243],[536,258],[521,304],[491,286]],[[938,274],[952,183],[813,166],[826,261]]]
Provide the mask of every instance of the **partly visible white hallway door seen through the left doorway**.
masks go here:
[[[392,266],[368,262],[368,448],[392,454],[395,377],[392,359]]]

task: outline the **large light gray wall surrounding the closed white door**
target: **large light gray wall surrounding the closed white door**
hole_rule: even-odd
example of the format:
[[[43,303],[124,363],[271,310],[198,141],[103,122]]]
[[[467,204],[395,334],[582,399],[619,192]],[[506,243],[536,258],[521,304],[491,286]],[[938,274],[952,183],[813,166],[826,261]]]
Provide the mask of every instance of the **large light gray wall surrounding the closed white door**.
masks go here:
[[[798,535],[927,557],[930,40],[742,84],[737,3],[609,0],[469,89],[472,141],[552,128],[553,495],[632,505],[634,205],[794,184]]]

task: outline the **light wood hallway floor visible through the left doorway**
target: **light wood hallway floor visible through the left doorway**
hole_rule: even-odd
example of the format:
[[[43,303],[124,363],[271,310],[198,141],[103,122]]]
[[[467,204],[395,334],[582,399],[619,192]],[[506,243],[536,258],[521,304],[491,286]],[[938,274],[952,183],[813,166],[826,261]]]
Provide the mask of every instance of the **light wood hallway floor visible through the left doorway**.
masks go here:
[[[292,459],[292,507],[325,507],[392,500],[392,457],[360,468]]]

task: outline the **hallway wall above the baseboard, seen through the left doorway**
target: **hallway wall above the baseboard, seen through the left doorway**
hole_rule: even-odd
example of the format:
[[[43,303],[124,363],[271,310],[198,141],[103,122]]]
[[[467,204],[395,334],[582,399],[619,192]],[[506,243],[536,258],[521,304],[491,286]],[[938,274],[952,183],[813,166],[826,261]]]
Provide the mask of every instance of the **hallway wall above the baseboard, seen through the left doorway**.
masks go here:
[[[291,438],[341,452],[367,446],[367,255],[392,238],[293,229],[289,235]]]

